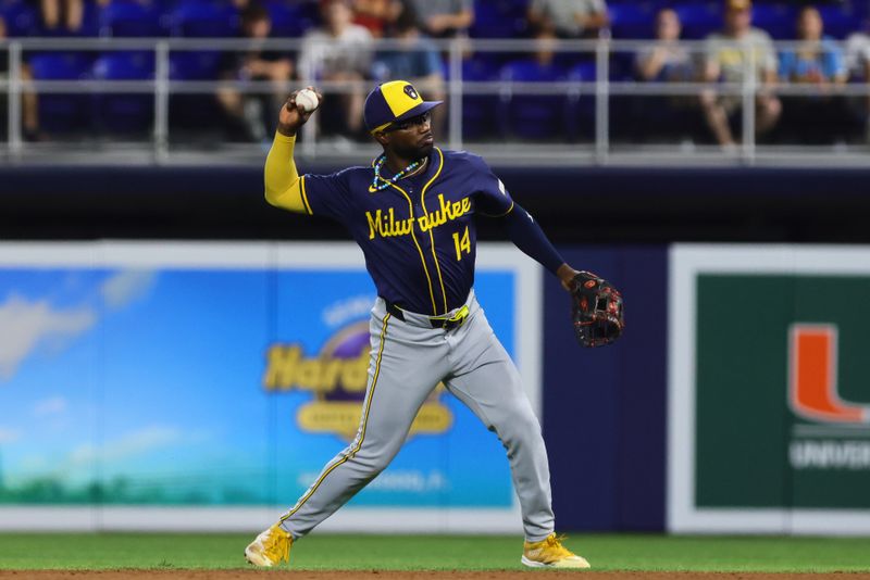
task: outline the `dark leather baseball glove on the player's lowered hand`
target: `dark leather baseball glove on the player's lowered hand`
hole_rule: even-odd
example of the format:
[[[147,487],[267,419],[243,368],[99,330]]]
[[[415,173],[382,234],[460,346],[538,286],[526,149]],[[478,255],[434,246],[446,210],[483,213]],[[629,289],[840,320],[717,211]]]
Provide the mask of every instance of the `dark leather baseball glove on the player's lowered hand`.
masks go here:
[[[622,294],[591,272],[580,272],[571,290],[571,320],[582,346],[604,346],[616,341],[625,328]]]

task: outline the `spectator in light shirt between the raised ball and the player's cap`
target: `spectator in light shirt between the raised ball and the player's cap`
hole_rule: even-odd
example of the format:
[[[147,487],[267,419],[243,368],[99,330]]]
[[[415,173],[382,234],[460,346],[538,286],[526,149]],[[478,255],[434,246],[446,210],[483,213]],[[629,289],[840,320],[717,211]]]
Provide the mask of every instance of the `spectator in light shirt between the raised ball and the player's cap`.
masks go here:
[[[362,137],[362,105],[366,94],[362,80],[371,70],[372,35],[351,22],[353,11],[349,0],[322,0],[321,16],[323,26],[309,30],[302,39],[299,77],[307,85],[324,80],[347,84],[347,91],[337,96],[339,114],[321,114],[321,126]],[[335,106],[336,96],[328,90],[324,93],[323,106],[328,111]],[[330,127],[330,122],[336,118],[338,125]]]

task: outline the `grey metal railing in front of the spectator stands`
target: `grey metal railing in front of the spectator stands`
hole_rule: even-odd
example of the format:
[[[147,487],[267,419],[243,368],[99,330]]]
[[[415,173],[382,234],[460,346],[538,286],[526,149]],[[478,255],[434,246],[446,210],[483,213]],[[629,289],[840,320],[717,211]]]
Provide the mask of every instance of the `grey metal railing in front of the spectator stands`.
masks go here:
[[[594,78],[563,76],[554,81],[515,80],[496,76],[487,79],[463,78],[463,63],[473,51],[474,59],[489,58],[493,61],[507,62],[512,59],[531,58],[542,45],[527,39],[458,39],[434,40],[445,61],[446,80],[444,91],[447,99],[447,123],[440,135],[445,147],[461,149],[473,147],[487,156],[512,163],[529,164],[631,164],[631,163],[840,163],[863,165],[870,161],[870,149],[866,140],[847,140],[834,138],[831,143],[819,147],[793,144],[759,144],[756,140],[757,96],[761,91],[783,97],[816,98],[819,96],[838,99],[867,99],[870,102],[870,84],[846,84],[820,88],[813,85],[785,84],[763,86],[753,73],[755,52],[751,47],[741,47],[743,51],[744,74],[739,83],[704,83],[691,79],[680,83],[637,81],[631,78],[630,63],[632,55],[649,47],[650,40],[576,40],[555,41],[546,49],[552,51],[556,61],[570,67],[585,62],[594,72]],[[297,71],[298,80],[275,85],[268,80],[183,80],[172,77],[173,55],[181,52],[244,52],[254,47],[259,50],[282,51],[288,54],[298,53],[302,48],[301,39],[269,39],[256,45],[246,39],[202,39],[202,38],[92,38],[92,39],[49,39],[21,38],[0,43],[0,58],[8,59],[7,79],[0,78],[0,92],[7,97],[7,136],[0,142],[0,159],[5,163],[38,162],[50,156],[53,162],[60,159],[70,162],[136,162],[136,163],[213,163],[215,157],[241,163],[259,163],[262,160],[265,143],[211,143],[204,150],[196,143],[176,142],[173,139],[174,128],[170,122],[171,106],[174,96],[200,94],[203,99],[213,99],[221,88],[232,86],[241,94],[270,94],[276,90],[289,92],[293,89],[315,85],[325,94],[349,94],[355,91],[368,92],[374,86],[373,80],[359,81],[319,81],[318,72],[313,70]],[[682,42],[687,51],[699,56],[707,46],[704,41]],[[778,42],[776,49],[795,49],[797,42]],[[842,48],[842,45],[841,45]],[[406,50],[398,40],[377,40],[372,46],[375,50]],[[82,78],[73,80],[25,80],[22,71],[30,54],[45,52],[113,52],[146,51],[154,58],[153,78],[138,80],[103,80]],[[3,54],[5,53],[5,54]],[[621,66],[623,75],[614,77],[613,66]],[[636,142],[631,137],[620,136],[614,130],[613,116],[620,113],[614,106],[619,102],[634,100],[641,102],[650,97],[684,97],[695,103],[701,91],[714,91],[719,96],[731,96],[738,99],[742,106],[739,127],[742,140],[736,148],[723,149],[709,139],[673,141],[663,139],[659,143]],[[149,135],[136,139],[117,138],[98,139],[91,135],[79,135],[80,147],[70,147],[69,141],[29,142],[22,134],[23,96],[47,94],[151,94],[153,97],[153,124]],[[424,94],[425,96],[425,94]],[[559,129],[551,139],[530,140],[522,135],[514,135],[509,115],[496,115],[490,119],[488,138],[470,137],[465,125],[469,118],[463,116],[463,100],[472,97],[489,97],[493,106],[517,103],[515,98],[564,98],[574,106],[581,99],[592,102],[593,114],[582,126],[582,136],[566,136]],[[520,100],[521,102],[521,100]],[[689,106],[685,114],[698,114],[697,109]],[[318,125],[319,116],[314,115],[302,134],[299,152],[310,159],[344,160],[357,159],[369,152],[361,152],[359,147],[348,151],[347,147],[337,147],[335,139],[325,136]],[[465,123],[463,123],[463,121]],[[866,122],[866,121],[865,121]],[[856,116],[856,124],[861,119]],[[706,128],[700,126],[701,133]],[[862,134],[856,127],[856,133]],[[2,139],[2,136],[0,136]],[[646,140],[645,140],[646,141]],[[374,151],[374,146],[372,146]],[[95,152],[99,159],[95,160]]]

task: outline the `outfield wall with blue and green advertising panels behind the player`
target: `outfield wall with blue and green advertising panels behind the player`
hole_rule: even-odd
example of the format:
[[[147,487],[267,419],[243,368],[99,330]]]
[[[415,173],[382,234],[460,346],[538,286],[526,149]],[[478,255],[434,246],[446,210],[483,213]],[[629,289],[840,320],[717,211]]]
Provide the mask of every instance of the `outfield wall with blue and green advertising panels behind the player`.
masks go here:
[[[616,345],[579,349],[563,290],[509,245],[476,283],[560,528],[870,533],[870,248],[562,251],[623,290]],[[347,243],[0,245],[0,528],[262,527],[352,438],[372,298]],[[498,441],[437,392],[324,529],[519,518]]]

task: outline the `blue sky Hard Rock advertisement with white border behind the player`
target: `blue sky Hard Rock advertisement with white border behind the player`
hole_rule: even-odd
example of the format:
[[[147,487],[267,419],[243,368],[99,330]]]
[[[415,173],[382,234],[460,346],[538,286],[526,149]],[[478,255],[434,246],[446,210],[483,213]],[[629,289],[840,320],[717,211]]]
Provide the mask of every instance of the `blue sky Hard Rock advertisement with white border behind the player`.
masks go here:
[[[478,255],[475,291],[539,407],[539,272]],[[0,527],[269,525],[353,439],[375,298],[347,243],[0,245]],[[521,519],[498,439],[439,387],[323,527]]]

